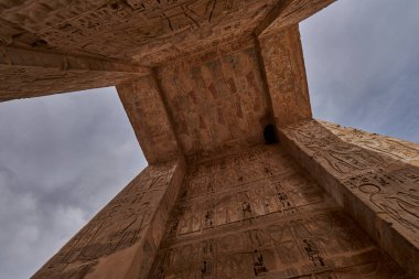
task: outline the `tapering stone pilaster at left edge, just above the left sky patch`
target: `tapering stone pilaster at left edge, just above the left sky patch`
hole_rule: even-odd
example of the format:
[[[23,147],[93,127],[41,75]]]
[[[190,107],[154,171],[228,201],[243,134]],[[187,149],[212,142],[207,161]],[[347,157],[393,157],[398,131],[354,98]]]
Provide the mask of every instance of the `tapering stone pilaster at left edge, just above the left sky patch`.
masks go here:
[[[150,72],[121,62],[0,46],[0,101],[112,86]]]

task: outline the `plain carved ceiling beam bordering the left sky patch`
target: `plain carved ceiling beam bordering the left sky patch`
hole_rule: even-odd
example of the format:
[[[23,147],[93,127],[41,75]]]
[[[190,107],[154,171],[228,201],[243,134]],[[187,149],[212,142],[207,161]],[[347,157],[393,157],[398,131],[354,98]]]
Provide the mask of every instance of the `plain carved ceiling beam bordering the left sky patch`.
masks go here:
[[[154,75],[121,83],[117,90],[147,161],[183,158]]]

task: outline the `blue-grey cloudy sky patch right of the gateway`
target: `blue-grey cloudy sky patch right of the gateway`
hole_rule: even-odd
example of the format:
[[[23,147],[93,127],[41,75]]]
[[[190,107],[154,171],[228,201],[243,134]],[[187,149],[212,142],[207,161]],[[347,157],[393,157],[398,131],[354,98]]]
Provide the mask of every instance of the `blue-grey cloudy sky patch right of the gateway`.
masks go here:
[[[301,24],[314,116],[419,141],[419,4],[341,0]]]

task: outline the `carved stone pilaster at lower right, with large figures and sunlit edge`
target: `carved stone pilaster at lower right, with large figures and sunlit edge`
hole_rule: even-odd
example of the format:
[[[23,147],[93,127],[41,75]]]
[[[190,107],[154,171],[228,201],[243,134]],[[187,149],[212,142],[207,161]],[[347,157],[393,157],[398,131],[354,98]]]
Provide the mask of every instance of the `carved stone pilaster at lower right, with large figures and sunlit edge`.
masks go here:
[[[318,120],[280,129],[290,153],[419,278],[419,144]]]

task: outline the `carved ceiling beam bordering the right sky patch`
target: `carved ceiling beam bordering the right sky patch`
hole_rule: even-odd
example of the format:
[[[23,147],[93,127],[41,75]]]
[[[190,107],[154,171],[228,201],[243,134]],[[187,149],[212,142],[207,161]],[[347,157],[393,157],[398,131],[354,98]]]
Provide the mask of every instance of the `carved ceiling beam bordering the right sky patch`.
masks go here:
[[[279,127],[311,118],[298,25],[259,37],[275,120]]]

